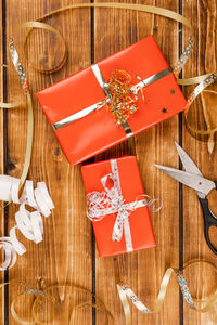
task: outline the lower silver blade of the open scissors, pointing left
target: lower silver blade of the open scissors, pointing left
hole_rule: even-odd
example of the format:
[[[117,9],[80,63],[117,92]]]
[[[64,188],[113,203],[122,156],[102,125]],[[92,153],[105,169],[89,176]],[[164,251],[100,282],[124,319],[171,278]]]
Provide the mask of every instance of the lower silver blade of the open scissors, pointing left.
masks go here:
[[[176,181],[195,190],[196,192],[207,195],[213,188],[215,188],[215,183],[204,179],[201,176],[178,170],[175,168],[169,168],[166,166],[155,165],[157,168],[166,172],[168,176],[174,178]]]

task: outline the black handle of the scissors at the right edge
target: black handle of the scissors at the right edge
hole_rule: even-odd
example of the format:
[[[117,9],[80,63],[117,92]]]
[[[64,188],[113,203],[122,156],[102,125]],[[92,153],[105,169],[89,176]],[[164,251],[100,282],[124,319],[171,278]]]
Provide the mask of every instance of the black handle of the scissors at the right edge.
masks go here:
[[[201,198],[201,197],[199,197],[199,200],[200,200],[202,209],[203,209],[203,216],[204,216],[204,234],[205,234],[206,243],[208,244],[208,247],[210,248],[210,250],[215,255],[217,255],[217,248],[215,248],[212,245],[209,236],[208,236],[208,230],[209,230],[209,227],[212,225],[217,226],[217,218],[215,218],[214,213],[210,211],[207,198]]]

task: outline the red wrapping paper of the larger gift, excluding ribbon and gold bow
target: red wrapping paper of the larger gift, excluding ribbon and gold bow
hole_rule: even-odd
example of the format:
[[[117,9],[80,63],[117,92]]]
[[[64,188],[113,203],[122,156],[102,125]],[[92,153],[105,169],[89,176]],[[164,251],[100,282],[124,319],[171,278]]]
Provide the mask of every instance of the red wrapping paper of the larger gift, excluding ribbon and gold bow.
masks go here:
[[[184,109],[186,99],[153,36],[100,61],[97,65],[105,81],[110,80],[112,72],[118,69],[127,72],[132,84],[138,83],[138,78],[146,80],[166,72],[156,81],[149,80],[143,88],[143,95],[139,94],[139,108],[127,120],[130,134],[137,134]],[[116,126],[105,106],[85,117],[76,117],[75,121],[65,126],[63,123],[59,128],[59,122],[63,119],[78,112],[80,114],[85,108],[105,100],[105,92],[91,67],[40,91],[37,96],[65,156],[73,165],[129,138],[122,125]]]

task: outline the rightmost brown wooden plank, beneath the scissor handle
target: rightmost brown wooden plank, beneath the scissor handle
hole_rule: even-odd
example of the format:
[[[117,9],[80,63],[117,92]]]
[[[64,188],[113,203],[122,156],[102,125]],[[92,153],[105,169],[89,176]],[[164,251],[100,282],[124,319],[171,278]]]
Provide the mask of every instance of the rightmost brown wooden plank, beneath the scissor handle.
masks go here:
[[[197,76],[200,74],[216,70],[216,1],[195,1],[191,0],[188,3],[183,2],[183,15],[191,20],[193,25],[193,35],[195,46],[193,55],[184,68],[184,77]],[[184,43],[189,37],[188,30],[184,29]],[[193,87],[186,90],[188,95]],[[209,89],[217,90],[217,86],[212,86]],[[210,115],[216,115],[216,98],[209,102],[206,95],[203,101],[201,98],[195,101],[191,109],[193,112],[191,122],[195,125],[195,119],[201,120],[205,112]],[[216,126],[216,122],[215,122]],[[212,127],[215,127],[214,125]],[[203,128],[201,125],[197,128]],[[207,142],[200,142],[192,138],[183,128],[183,148],[196,162],[205,178],[214,180],[216,178],[216,147],[213,155],[208,154]],[[216,211],[216,193],[212,193],[210,207]],[[191,188],[183,186],[183,252],[184,261],[193,258],[205,258],[217,266],[216,256],[209,250],[204,238],[203,213],[200,207],[199,199]],[[217,247],[216,232],[214,244]],[[217,276],[215,272],[207,265],[195,265],[187,272],[187,280],[189,281],[192,295],[197,298],[206,298],[214,292],[217,285]],[[217,320],[216,306],[206,314],[195,313],[184,303],[184,323],[195,325],[214,325]]]

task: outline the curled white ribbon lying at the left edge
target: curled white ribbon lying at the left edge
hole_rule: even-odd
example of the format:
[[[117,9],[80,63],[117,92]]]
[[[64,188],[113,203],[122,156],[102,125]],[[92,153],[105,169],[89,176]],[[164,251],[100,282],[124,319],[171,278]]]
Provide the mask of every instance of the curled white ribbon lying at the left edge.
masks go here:
[[[25,246],[17,239],[16,230],[27,239],[38,244],[43,240],[43,222],[41,214],[49,217],[54,208],[44,182],[38,182],[34,190],[33,181],[26,181],[23,193],[18,198],[20,180],[10,176],[0,176],[0,200],[20,204],[15,213],[16,224],[10,230],[9,237],[0,237],[0,248],[4,252],[4,261],[0,271],[11,269],[16,262],[16,255],[26,252]],[[29,206],[35,209],[30,212]]]

